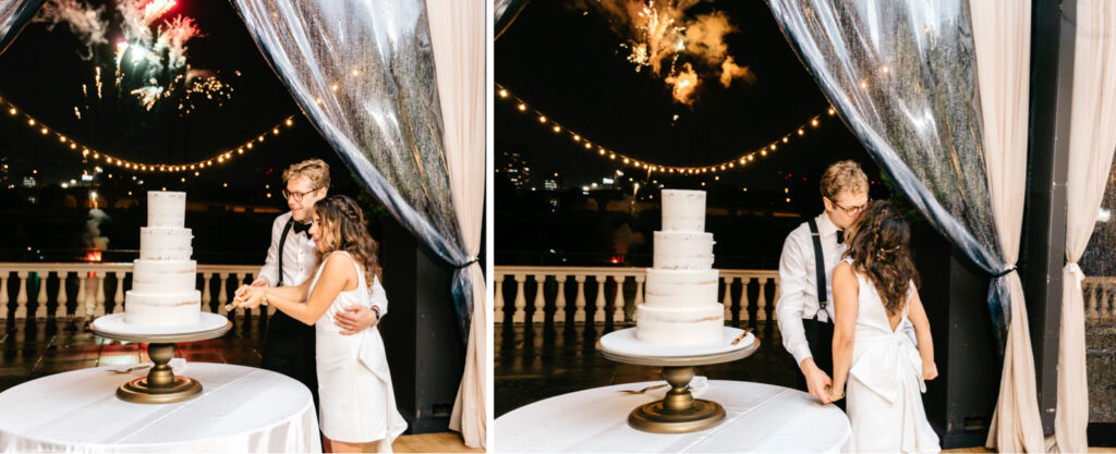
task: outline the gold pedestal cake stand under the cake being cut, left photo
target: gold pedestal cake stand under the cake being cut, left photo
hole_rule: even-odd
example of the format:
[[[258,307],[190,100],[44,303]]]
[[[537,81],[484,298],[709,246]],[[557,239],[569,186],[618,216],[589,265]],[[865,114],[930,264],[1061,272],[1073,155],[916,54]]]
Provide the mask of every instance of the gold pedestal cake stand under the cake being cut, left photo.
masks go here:
[[[136,404],[171,404],[189,400],[202,393],[193,378],[175,376],[170,363],[176,342],[193,342],[224,336],[232,322],[223,316],[202,312],[196,325],[146,327],[124,321],[123,313],[99,317],[89,329],[97,336],[131,342],[148,342],[147,356],[155,365],[146,377],[128,380],[116,389],[116,397]]]

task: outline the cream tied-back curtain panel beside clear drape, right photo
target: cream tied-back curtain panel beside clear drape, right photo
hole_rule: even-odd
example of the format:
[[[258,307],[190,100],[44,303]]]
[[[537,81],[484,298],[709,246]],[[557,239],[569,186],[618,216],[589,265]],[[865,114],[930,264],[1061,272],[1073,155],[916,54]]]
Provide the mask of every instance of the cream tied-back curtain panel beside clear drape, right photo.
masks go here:
[[[1016,0],[971,0],[969,4],[992,212],[1004,263],[1013,269],[1019,258],[1027,193],[1031,4]],[[1011,294],[1011,318],[1000,394],[985,444],[1000,452],[1042,452],[1042,422],[1023,286],[1014,271],[1004,280]]]

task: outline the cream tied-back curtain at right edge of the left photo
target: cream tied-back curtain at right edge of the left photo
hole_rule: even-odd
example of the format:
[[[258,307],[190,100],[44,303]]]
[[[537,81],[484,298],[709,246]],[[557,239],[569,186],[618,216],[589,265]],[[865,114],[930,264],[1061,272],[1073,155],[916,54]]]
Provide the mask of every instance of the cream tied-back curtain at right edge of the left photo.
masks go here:
[[[444,124],[445,161],[453,206],[469,257],[481,252],[484,222],[484,3],[485,0],[427,0],[437,88]],[[450,416],[450,428],[465,444],[485,446],[488,432],[488,313],[484,274],[473,262],[459,270],[472,283],[473,313],[465,370]]]

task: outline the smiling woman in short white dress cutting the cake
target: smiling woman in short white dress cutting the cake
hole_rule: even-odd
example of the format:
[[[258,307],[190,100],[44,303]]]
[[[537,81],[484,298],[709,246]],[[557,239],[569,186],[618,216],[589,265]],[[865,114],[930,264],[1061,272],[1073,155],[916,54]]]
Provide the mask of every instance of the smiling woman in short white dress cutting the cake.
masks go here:
[[[379,330],[343,336],[334,325],[334,317],[348,307],[372,307],[369,287],[383,291],[377,244],[368,234],[364,212],[344,195],[315,203],[312,219],[309,233],[321,263],[314,279],[298,287],[244,286],[237,290],[237,303],[246,308],[271,305],[315,326],[318,421],[326,452],[359,453],[365,443],[375,441],[381,452],[391,452],[392,441],[403,433],[406,422],[395,408]],[[372,310],[378,322],[378,308]]]

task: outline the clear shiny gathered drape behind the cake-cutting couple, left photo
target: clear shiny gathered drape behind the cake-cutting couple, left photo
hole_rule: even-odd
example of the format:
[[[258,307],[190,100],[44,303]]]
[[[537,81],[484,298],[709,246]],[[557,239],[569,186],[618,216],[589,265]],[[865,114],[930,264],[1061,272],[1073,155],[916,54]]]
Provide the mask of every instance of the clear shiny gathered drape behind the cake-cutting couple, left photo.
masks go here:
[[[302,113],[392,215],[454,268],[469,255],[450,186],[422,0],[234,0]],[[453,294],[462,340],[472,284]]]

